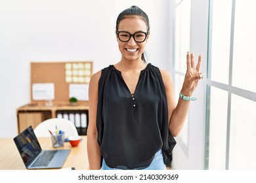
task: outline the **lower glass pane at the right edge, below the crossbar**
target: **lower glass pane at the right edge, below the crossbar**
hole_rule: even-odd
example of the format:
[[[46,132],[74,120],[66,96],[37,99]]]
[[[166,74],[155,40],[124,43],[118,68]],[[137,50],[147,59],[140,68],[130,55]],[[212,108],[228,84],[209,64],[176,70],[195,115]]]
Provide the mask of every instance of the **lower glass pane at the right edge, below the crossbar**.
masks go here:
[[[232,94],[229,169],[256,169],[255,101]]]

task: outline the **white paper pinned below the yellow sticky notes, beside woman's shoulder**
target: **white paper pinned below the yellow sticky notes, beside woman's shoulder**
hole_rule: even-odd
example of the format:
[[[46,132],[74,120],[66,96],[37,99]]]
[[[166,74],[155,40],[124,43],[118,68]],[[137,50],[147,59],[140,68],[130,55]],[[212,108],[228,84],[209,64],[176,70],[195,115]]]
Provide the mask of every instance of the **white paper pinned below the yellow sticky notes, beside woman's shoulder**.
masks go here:
[[[89,101],[89,84],[70,84],[70,97],[79,101]]]

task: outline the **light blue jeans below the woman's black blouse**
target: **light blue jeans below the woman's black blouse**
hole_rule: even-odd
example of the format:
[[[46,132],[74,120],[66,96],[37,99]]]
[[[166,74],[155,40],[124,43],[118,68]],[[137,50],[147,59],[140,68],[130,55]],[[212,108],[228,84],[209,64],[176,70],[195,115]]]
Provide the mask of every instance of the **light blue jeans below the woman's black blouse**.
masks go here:
[[[102,161],[101,170],[120,170],[120,169],[112,169],[106,165],[105,160]],[[134,169],[136,170],[136,169]],[[163,163],[163,154],[161,149],[155,154],[153,161],[150,163],[148,167],[142,170],[166,170],[165,163]]]

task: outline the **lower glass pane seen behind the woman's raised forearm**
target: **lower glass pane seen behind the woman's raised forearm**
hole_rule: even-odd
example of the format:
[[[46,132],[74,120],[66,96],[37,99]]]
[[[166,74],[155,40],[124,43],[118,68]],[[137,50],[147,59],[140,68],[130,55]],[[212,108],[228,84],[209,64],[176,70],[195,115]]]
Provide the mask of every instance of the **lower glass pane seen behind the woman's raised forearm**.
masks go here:
[[[182,84],[184,81],[184,75],[175,74],[175,99],[178,103],[179,93],[181,92]],[[181,132],[179,133],[179,139],[184,143],[183,145],[188,147],[188,117],[184,122]]]

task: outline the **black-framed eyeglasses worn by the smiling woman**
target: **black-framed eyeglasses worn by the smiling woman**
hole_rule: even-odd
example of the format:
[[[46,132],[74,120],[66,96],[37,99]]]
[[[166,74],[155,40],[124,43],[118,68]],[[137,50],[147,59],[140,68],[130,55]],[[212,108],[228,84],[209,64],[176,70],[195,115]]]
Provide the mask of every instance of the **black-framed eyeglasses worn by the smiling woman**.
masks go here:
[[[148,35],[147,33],[144,33],[142,31],[138,31],[134,34],[131,34],[127,31],[117,31],[118,39],[122,42],[128,42],[131,37],[133,37],[134,41],[136,42],[144,42],[146,40],[146,37]]]

